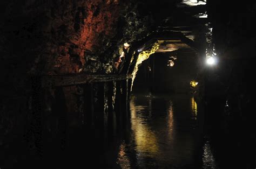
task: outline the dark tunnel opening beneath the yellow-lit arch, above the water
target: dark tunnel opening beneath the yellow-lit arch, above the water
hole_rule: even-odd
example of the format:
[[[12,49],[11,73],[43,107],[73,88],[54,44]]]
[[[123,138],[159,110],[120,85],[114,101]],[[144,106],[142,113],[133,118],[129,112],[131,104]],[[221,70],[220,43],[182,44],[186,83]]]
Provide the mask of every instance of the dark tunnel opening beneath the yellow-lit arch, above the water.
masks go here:
[[[157,52],[140,64],[132,93],[193,93],[198,85],[195,51]]]

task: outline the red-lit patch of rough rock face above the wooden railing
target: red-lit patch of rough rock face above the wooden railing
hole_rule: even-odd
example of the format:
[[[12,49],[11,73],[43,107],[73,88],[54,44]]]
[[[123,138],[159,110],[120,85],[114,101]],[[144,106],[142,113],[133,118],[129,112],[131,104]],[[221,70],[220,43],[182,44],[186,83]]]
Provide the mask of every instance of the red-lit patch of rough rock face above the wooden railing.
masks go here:
[[[109,39],[116,34],[119,2],[57,1],[55,5],[50,22],[49,60],[53,60],[53,65],[48,65],[49,73],[78,73],[83,71],[86,61],[94,65],[89,71],[97,72],[101,66],[99,55],[87,53],[104,52],[104,47],[110,45]]]

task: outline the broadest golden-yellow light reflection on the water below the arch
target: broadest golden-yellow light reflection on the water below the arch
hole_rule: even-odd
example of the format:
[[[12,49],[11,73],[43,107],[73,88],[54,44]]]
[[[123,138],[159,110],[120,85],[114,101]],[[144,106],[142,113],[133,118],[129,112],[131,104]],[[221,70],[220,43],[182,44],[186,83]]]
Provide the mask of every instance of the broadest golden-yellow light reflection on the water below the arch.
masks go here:
[[[132,131],[134,132],[136,149],[139,153],[146,153],[149,157],[156,157],[159,152],[156,133],[145,123],[143,117],[137,116],[137,110],[143,108],[139,105],[135,107],[134,97],[131,98],[131,125]]]

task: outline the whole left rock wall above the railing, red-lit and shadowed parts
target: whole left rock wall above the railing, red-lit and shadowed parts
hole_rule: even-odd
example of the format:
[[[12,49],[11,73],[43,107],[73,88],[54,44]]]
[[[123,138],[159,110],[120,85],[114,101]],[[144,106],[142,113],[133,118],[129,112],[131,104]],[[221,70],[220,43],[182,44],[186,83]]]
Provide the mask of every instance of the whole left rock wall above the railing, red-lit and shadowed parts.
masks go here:
[[[111,65],[110,40],[118,33],[118,27],[122,30],[118,19],[127,10],[124,2],[29,0],[4,3],[1,51],[6,51],[7,59],[15,55],[26,60],[23,63],[26,68],[21,71],[78,73],[89,64],[86,71],[97,72],[107,67],[106,63]]]

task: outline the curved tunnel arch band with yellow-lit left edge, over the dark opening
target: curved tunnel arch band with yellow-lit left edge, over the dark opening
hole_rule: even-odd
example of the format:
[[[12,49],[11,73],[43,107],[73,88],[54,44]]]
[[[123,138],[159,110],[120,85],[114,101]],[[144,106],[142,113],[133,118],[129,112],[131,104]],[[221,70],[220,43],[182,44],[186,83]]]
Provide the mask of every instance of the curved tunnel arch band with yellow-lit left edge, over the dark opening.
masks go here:
[[[190,37],[190,38],[189,38]],[[153,53],[171,53],[177,50],[183,50],[183,53],[187,53],[190,55],[194,53],[194,56],[197,57],[199,47],[198,45],[191,39],[194,36],[190,32],[190,36],[185,36],[185,34],[181,31],[159,31],[154,32],[151,36],[146,39],[140,41],[138,45],[134,45],[131,48],[131,53],[133,53],[133,59],[136,59],[135,66],[131,66],[129,73],[132,73],[132,85],[136,79],[137,72],[139,70],[139,66],[143,63],[143,61],[150,58]],[[130,52],[129,52],[130,53]]]

